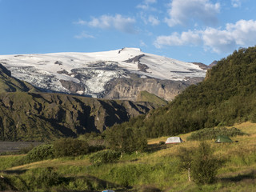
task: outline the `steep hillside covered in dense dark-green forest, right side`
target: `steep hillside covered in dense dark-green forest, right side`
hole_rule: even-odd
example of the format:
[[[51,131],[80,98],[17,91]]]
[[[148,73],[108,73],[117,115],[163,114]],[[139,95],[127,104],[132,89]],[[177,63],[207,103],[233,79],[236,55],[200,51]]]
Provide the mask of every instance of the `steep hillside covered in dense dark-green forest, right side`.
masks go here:
[[[256,46],[234,51],[208,70],[167,106],[153,110],[130,127],[147,128],[149,137],[176,135],[235,122],[256,122]]]

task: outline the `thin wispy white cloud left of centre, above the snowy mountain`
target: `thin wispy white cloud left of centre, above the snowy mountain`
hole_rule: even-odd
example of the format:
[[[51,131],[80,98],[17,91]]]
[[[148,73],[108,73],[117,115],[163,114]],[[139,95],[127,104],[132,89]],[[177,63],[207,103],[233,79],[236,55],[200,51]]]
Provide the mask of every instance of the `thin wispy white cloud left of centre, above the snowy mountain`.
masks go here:
[[[102,15],[99,18],[92,18],[90,22],[85,22],[86,25],[95,28],[101,28],[103,30],[119,30],[125,33],[135,33],[134,30],[134,18],[125,18],[121,14],[116,14],[115,16]]]

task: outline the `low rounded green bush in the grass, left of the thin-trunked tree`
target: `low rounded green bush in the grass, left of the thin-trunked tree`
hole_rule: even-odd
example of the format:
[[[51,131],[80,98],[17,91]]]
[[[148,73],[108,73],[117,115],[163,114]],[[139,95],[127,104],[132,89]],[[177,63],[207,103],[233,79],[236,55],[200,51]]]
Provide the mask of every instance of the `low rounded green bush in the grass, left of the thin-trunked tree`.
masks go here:
[[[90,162],[102,164],[108,162],[117,162],[121,153],[114,150],[104,150],[90,156]]]

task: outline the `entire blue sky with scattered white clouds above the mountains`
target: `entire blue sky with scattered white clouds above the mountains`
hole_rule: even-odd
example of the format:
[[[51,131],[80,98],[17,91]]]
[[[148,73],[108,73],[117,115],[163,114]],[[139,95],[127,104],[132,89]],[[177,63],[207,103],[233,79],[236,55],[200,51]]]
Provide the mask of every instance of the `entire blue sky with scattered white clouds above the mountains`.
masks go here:
[[[255,0],[0,0],[0,54],[143,52],[210,64],[256,45]]]

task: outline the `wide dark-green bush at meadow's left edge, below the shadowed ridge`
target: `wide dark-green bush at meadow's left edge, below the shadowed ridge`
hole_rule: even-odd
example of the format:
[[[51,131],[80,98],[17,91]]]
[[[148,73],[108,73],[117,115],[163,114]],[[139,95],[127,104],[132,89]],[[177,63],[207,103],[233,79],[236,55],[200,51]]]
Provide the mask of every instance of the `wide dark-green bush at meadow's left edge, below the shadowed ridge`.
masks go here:
[[[78,140],[76,138],[61,138],[55,142],[54,156],[66,157],[66,156],[78,156],[81,154],[87,154],[89,152],[88,143]]]

